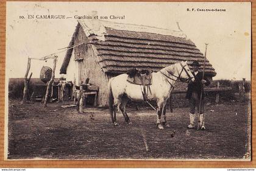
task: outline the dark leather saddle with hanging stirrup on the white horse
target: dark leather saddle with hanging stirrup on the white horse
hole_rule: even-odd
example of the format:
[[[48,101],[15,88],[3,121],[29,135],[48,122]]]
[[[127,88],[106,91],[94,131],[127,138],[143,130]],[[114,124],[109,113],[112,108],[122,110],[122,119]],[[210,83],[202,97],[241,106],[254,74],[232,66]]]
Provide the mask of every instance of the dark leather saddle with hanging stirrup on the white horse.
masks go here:
[[[148,93],[146,92],[146,86],[152,84],[152,71],[150,69],[136,69],[136,68],[132,68],[129,69],[129,71],[127,71],[126,73],[128,75],[127,77],[127,82],[129,83],[133,83],[135,85],[141,85],[143,86],[143,99],[144,101],[148,100]]]

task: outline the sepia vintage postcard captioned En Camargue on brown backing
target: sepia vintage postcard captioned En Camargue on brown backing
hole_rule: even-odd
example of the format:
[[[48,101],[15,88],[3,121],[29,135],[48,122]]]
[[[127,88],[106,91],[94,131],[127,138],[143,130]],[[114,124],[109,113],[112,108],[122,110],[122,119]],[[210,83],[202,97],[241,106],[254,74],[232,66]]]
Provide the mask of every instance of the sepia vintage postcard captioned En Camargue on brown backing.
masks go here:
[[[251,161],[251,2],[7,2],[5,160]]]

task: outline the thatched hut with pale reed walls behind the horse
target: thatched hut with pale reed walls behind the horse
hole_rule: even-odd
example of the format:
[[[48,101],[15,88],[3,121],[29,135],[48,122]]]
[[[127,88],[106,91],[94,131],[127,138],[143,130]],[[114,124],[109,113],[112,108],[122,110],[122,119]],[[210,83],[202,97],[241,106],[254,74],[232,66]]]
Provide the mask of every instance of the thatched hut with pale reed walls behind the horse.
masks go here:
[[[79,44],[82,45],[76,46]],[[181,30],[80,19],[69,43],[70,47],[74,45],[74,51],[69,49],[66,53],[60,74],[72,72],[70,78],[76,75],[79,83],[91,77],[93,83],[101,85],[101,94],[107,94],[102,86],[107,86],[109,77],[130,68],[159,71],[182,60],[188,60],[188,64],[198,61],[202,65],[204,62],[204,55]],[[72,57],[77,63],[74,67],[77,71],[68,69]],[[208,60],[205,74],[208,77],[216,75]],[[105,105],[107,99],[103,96],[106,95],[101,94],[98,103]]]

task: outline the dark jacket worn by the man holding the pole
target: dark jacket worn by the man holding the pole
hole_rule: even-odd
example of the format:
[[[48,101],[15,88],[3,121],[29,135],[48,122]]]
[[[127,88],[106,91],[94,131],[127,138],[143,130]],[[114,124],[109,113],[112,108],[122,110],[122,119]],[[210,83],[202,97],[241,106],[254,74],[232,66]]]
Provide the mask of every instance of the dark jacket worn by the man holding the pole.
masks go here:
[[[194,72],[192,72],[192,74],[194,75],[194,82],[188,83],[188,90],[187,90],[186,98],[190,99],[192,96],[192,93],[196,92],[198,99],[200,99],[201,88],[202,88],[202,82],[201,82],[202,72],[197,72],[196,75],[194,74]],[[206,81],[206,83],[205,83],[206,86],[210,85],[210,81],[208,79],[204,78],[204,80]],[[204,92],[202,93],[202,98],[204,98]]]

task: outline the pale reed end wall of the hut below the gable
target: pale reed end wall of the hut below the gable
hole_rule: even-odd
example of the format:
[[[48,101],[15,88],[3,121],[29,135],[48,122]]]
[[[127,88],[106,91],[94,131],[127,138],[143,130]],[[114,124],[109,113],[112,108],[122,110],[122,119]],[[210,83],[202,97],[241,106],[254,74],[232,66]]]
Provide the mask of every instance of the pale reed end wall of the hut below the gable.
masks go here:
[[[107,76],[102,71],[91,46],[88,46],[87,52],[87,57],[79,61],[80,80],[85,82],[85,79],[89,78],[89,83],[99,86],[98,105],[106,106],[108,104]]]

